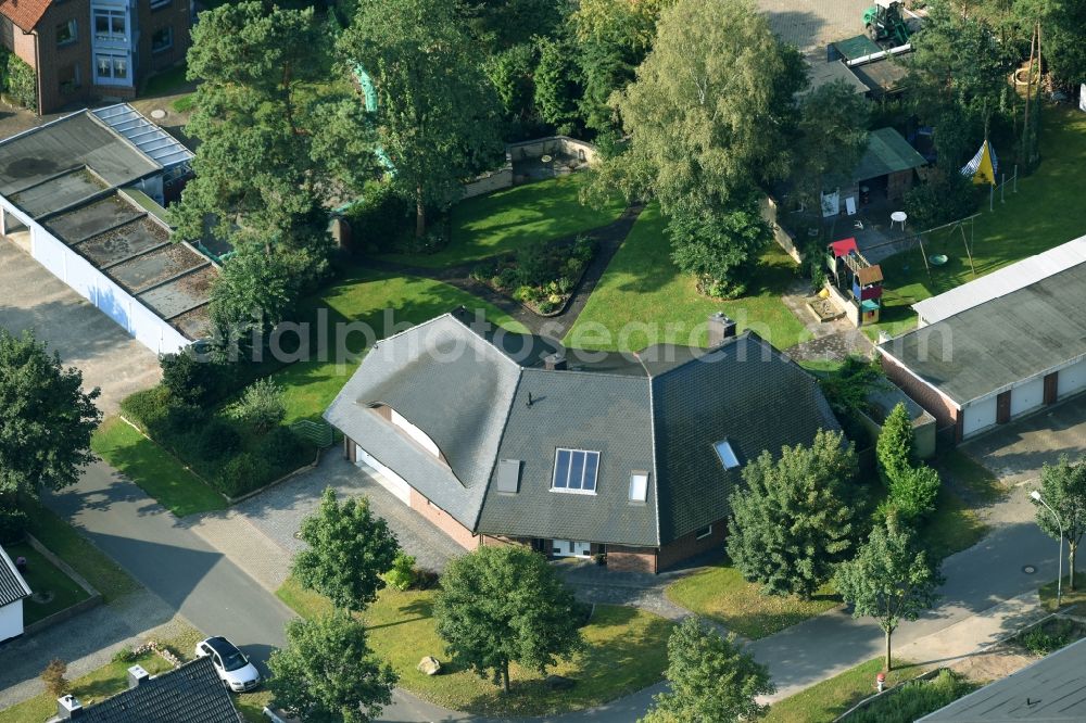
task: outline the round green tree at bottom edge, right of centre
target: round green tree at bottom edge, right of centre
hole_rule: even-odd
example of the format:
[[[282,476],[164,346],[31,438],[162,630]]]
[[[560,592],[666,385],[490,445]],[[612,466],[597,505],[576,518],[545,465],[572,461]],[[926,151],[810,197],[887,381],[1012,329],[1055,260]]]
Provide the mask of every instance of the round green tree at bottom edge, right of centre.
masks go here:
[[[735,642],[696,616],[683,620],[668,638],[669,690],[654,698],[641,723],[754,721],[769,710],[758,703],[776,688],[769,670]]]

